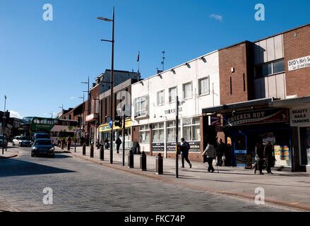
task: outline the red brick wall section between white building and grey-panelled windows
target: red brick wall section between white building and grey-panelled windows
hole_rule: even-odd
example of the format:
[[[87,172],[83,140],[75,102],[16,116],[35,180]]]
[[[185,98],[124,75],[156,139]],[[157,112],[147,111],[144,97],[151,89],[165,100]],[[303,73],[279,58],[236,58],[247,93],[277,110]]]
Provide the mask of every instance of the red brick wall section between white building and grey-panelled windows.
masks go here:
[[[242,42],[219,51],[221,105],[243,102],[251,98],[251,83],[248,83],[251,77],[251,73],[249,73],[250,46],[250,42]],[[234,73],[232,73],[232,68],[234,68]],[[232,77],[232,95],[230,94],[230,77]]]

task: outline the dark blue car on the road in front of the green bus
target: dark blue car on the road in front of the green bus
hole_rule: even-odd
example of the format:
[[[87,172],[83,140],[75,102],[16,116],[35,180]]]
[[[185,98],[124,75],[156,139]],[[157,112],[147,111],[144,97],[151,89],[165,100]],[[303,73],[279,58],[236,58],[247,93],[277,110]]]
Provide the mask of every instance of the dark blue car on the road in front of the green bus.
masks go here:
[[[47,157],[55,157],[55,148],[51,139],[37,139],[31,148],[31,157],[46,155]]]

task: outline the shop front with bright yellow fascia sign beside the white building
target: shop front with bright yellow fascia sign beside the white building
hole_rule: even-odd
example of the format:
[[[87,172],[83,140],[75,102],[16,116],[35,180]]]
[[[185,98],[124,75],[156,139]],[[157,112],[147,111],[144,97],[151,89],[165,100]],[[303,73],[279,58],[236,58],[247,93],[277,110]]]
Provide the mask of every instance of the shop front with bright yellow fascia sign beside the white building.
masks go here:
[[[100,141],[107,143],[107,148],[109,148],[109,141],[110,138],[111,128],[109,124],[102,124],[99,126],[99,133],[100,133]],[[125,148],[131,148],[131,119],[125,120]],[[113,122],[113,148],[116,148],[115,141],[119,137],[121,142],[123,142],[123,129],[119,128],[119,126],[115,126],[115,122]],[[122,145],[121,145],[122,147]]]

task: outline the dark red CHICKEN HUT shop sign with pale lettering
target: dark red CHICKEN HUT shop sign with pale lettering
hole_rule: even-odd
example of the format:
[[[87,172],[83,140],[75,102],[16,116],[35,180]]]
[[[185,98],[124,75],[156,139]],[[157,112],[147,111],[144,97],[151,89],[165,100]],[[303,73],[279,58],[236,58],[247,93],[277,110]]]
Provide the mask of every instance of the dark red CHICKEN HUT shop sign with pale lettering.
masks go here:
[[[241,126],[250,124],[266,124],[288,121],[287,109],[261,109],[249,112],[237,112],[224,115],[225,126]]]

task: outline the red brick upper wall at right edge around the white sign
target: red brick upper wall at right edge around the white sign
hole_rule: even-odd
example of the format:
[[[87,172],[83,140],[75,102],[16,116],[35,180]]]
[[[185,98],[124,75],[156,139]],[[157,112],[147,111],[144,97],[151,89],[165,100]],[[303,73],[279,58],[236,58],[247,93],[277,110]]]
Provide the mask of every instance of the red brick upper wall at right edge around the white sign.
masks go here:
[[[297,34],[297,37],[294,37]],[[310,55],[310,25],[283,35],[287,95],[310,95],[310,67],[288,71],[288,61]]]

